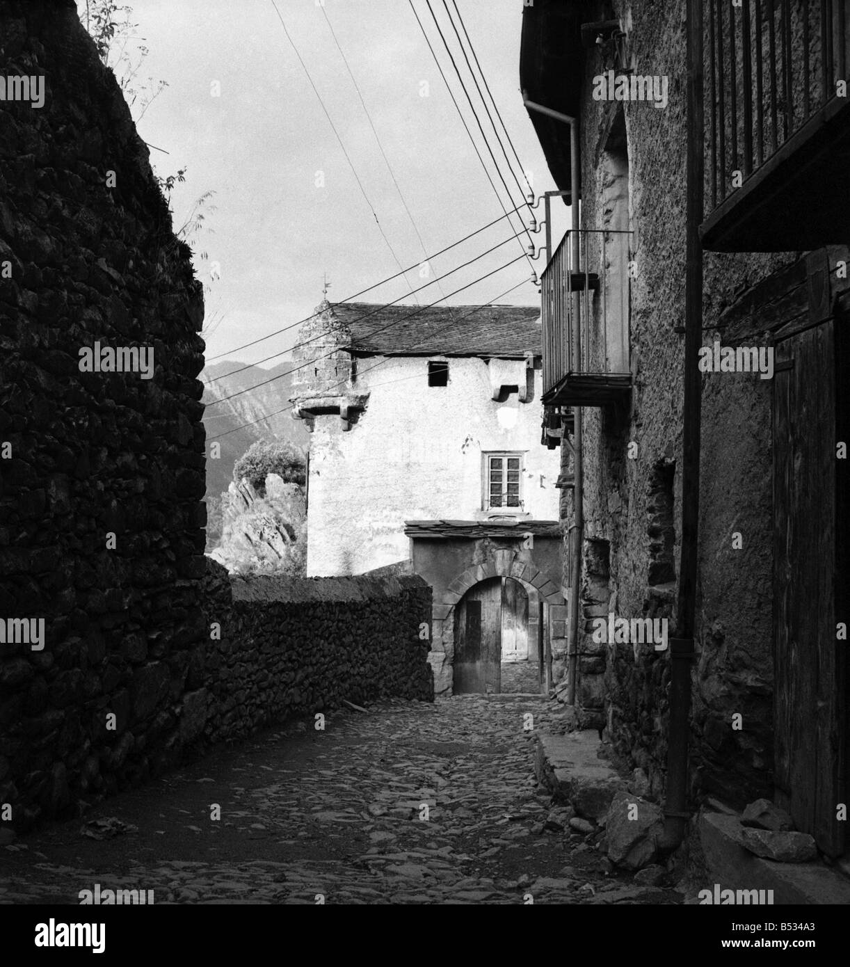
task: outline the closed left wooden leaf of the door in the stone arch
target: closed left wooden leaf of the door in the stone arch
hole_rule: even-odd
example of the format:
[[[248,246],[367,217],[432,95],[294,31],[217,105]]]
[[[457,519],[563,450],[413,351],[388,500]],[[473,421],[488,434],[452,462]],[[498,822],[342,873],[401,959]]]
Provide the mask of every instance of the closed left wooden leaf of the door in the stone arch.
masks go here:
[[[502,578],[470,588],[454,618],[454,694],[498,692],[502,660]]]

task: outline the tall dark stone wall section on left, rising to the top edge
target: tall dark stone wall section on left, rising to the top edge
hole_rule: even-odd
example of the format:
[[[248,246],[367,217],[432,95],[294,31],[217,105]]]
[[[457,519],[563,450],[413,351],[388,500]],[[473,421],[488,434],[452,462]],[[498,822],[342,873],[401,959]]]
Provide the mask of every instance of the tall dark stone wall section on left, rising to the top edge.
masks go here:
[[[146,775],[191,688],[203,303],[73,3],[2,0],[0,62],[45,81],[0,101],[0,804],[24,827]],[[97,342],[153,351],[151,378],[81,371]]]

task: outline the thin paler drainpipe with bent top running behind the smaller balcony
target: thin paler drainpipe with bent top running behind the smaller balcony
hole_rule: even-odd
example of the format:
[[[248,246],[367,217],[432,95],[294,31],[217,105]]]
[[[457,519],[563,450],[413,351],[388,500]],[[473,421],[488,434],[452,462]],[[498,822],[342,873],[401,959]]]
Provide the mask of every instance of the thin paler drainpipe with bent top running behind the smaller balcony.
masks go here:
[[[544,107],[542,104],[528,101],[525,91],[522,92],[522,102],[527,110],[537,111],[547,117],[554,118],[564,124],[570,125],[570,213],[572,217],[572,270],[578,271],[578,260],[581,253],[580,238],[578,234],[578,121],[569,114],[562,114],[554,111],[551,107]],[[587,266],[585,266],[585,272]],[[581,366],[581,320],[579,319],[579,308],[581,290],[576,289],[573,293],[574,305],[572,308],[572,344],[575,356],[573,366]],[[570,595],[570,628],[567,638],[567,703],[575,704],[575,672],[578,663],[578,592],[581,584],[581,548],[583,544],[584,532],[584,479],[583,463],[581,453],[581,407],[573,407],[574,433],[573,441],[573,470],[574,486],[572,490],[573,525],[572,525],[572,593]]]

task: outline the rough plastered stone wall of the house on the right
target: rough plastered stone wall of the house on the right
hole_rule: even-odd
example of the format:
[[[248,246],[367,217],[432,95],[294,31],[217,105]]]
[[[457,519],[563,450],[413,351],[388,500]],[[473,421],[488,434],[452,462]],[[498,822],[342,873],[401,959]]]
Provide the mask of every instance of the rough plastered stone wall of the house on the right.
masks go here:
[[[594,558],[598,542],[607,544],[606,590],[615,614],[672,618],[681,551],[684,336],[675,327],[682,326],[685,310],[685,5],[588,4],[585,19],[612,15],[630,23],[635,73],[667,77],[669,101],[664,108],[594,101],[593,77],[602,68],[589,52],[582,95],[583,227],[614,226],[628,216],[636,278],[630,280],[629,405],[584,409],[585,559]],[[625,173],[628,197],[618,188]],[[599,257],[593,249],[591,242],[592,261]],[[796,257],[706,252],[704,326],[717,324],[742,291]],[[708,328],[706,344],[716,337],[718,331]],[[747,373],[703,377],[690,777],[694,791],[745,801],[769,794],[772,768],[770,407],[769,380]],[[634,458],[630,442],[637,444]],[[672,533],[666,526],[671,509]],[[745,535],[746,552],[732,548],[735,531]],[[595,582],[591,574],[589,583]],[[604,597],[598,591],[590,589],[585,618]],[[601,662],[589,652],[591,628],[587,621],[579,640],[578,693],[582,671],[592,669],[587,699],[597,707]],[[672,621],[669,633],[675,633]],[[669,664],[669,652],[611,643],[604,671],[613,746],[631,767],[647,771],[657,794],[666,765]],[[732,714],[744,711],[747,729],[733,731]]]

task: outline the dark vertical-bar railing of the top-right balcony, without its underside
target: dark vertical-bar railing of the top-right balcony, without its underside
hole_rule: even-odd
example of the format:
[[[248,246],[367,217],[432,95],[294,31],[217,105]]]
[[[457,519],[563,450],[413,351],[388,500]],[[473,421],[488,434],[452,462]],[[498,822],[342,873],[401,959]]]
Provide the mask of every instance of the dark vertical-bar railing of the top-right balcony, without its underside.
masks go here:
[[[714,210],[835,101],[850,59],[850,0],[709,0],[704,19]]]

